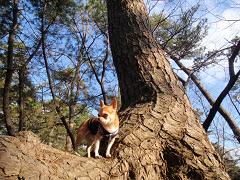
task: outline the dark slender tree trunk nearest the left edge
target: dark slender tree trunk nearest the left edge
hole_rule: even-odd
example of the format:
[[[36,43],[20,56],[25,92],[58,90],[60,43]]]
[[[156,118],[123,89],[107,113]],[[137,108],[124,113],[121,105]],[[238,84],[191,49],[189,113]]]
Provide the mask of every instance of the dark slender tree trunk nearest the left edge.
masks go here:
[[[13,0],[12,2],[12,25],[8,36],[8,51],[7,51],[7,72],[3,89],[3,113],[4,121],[6,124],[7,132],[13,136],[15,134],[13,122],[11,119],[10,112],[10,88],[13,76],[13,46],[16,29],[18,26],[18,1]]]

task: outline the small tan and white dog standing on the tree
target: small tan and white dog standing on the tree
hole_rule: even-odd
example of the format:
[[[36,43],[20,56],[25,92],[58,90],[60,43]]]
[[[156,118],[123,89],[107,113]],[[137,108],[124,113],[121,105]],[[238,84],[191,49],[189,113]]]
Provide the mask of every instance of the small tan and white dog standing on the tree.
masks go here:
[[[103,137],[107,137],[108,146],[106,150],[106,157],[111,157],[110,149],[115,141],[119,130],[119,119],[117,115],[117,100],[112,99],[111,104],[105,105],[100,101],[100,111],[98,118],[92,118],[83,122],[77,131],[77,140],[75,143],[75,150],[82,143],[83,140],[87,143],[87,156],[91,157],[91,148],[94,145],[95,158],[99,158],[99,146]]]

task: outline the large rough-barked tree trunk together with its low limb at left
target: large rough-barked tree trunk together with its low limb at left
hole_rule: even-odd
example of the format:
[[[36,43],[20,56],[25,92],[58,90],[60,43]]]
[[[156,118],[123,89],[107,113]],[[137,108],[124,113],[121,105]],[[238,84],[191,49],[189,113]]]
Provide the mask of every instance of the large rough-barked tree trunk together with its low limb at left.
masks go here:
[[[120,138],[112,148],[113,158],[64,156],[46,145],[41,147],[39,142],[34,143],[34,153],[29,153],[30,148],[26,147],[33,143],[25,142],[21,148],[16,138],[0,137],[3,142],[0,150],[12,145],[12,149],[4,151],[8,158],[2,161],[0,158],[0,162],[11,160],[21,167],[9,172],[9,163],[5,163],[5,171],[0,174],[5,176],[8,172],[12,177],[26,178],[29,168],[24,165],[32,167],[34,163],[38,178],[229,179],[150,33],[143,1],[108,0],[107,6],[110,43],[123,105]]]

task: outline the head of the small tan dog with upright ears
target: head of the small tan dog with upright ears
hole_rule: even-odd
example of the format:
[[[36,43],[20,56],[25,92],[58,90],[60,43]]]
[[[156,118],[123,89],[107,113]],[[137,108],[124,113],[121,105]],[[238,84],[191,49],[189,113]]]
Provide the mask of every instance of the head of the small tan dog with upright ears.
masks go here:
[[[99,111],[99,119],[104,124],[111,123],[115,121],[117,115],[117,100],[116,98],[112,99],[111,104],[105,105],[104,102],[100,101],[100,111]]]

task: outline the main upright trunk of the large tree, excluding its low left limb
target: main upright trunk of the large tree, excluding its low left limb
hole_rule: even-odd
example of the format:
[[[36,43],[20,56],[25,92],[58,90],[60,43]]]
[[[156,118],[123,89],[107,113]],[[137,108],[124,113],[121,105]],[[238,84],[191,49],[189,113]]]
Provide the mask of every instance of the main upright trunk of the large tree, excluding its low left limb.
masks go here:
[[[156,43],[142,0],[109,0],[110,43],[122,99],[116,157],[131,179],[228,179]],[[121,161],[120,161],[121,160]],[[121,172],[121,166],[127,167]]]

